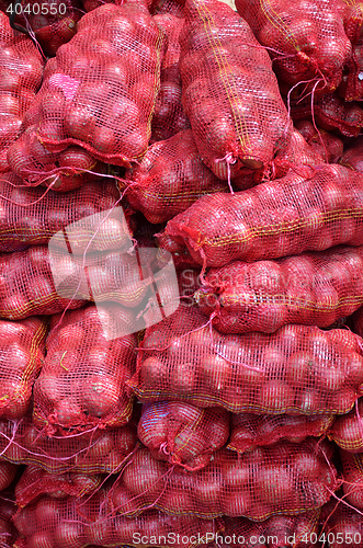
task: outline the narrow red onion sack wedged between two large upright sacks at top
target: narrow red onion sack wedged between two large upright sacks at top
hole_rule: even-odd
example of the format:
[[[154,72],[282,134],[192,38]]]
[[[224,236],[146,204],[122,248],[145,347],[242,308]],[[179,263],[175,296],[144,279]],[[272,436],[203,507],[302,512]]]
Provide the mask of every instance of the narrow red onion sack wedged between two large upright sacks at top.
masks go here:
[[[178,66],[179,35],[183,20],[171,13],[155,15],[152,20],[167,34],[168,49],[161,65],[160,91],[151,124],[151,142],[169,139],[178,132],[190,127],[182,106],[182,83]]]

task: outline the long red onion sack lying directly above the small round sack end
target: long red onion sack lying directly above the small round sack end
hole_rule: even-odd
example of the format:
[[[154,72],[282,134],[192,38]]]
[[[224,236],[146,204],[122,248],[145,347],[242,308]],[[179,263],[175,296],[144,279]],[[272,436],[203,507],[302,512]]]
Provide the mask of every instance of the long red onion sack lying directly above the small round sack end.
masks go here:
[[[148,328],[128,383],[144,402],[185,401],[239,413],[347,413],[362,390],[361,339],[345,330],[285,326],[222,335],[180,305]]]

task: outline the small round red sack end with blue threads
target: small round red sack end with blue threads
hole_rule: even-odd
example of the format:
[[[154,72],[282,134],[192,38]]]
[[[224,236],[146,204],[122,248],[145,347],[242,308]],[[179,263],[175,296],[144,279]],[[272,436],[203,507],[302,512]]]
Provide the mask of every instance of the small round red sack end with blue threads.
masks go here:
[[[175,401],[145,403],[137,435],[155,458],[196,470],[226,444],[229,414]]]

